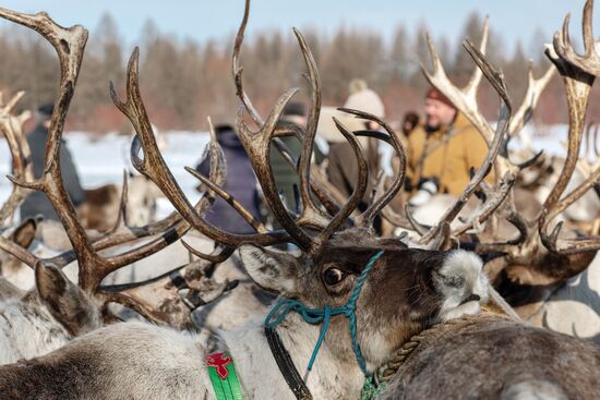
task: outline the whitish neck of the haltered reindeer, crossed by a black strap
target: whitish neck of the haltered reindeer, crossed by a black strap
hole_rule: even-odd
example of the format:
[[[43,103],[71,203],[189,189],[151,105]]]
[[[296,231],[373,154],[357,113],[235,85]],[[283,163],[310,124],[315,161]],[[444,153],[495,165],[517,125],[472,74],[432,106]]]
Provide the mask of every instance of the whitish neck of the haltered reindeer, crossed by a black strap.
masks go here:
[[[250,397],[295,399],[271,352],[263,320],[264,317],[259,318],[245,329],[221,332],[221,337]],[[277,334],[301,376],[304,376],[319,332],[320,326],[310,325],[296,314],[289,314],[277,327]],[[334,347],[335,351],[332,350]],[[353,356],[349,336],[345,348],[346,354],[338,354],[339,346],[332,346],[332,340],[325,339],[305,383],[313,398],[359,397],[364,376]]]

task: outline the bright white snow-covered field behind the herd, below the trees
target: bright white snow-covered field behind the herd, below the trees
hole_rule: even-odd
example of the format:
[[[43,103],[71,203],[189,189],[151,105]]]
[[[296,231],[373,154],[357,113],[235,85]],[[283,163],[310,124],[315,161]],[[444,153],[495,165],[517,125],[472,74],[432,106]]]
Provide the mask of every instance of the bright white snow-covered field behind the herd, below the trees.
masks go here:
[[[554,125],[543,129],[543,135],[532,137],[536,149],[543,149],[551,155],[566,154],[561,144],[566,140],[566,125]],[[538,131],[539,132],[539,131]],[[163,156],[171,168],[177,181],[194,203],[199,194],[194,186],[197,181],[184,171],[183,167],[194,167],[208,143],[205,132],[170,132],[165,134],[167,147]],[[68,146],[74,157],[83,185],[86,189],[97,187],[107,183],[121,183],[123,169],[133,171],[129,161],[129,146],[131,137],[107,134],[100,140],[92,140],[83,132],[73,132],[65,135]],[[515,143],[518,145],[518,143]],[[382,161],[388,166],[391,147],[381,146]],[[10,154],[4,141],[0,142],[0,175],[5,177],[10,172]],[[5,179],[0,179],[0,202],[11,191],[11,184]],[[170,204],[164,199],[159,202],[159,216],[171,210]]]

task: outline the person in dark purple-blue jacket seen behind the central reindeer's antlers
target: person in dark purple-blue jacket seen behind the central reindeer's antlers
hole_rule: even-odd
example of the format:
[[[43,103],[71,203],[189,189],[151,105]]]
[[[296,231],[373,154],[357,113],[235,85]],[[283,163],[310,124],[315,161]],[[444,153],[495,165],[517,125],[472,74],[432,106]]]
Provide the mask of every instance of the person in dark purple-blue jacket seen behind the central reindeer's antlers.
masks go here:
[[[254,218],[260,219],[261,202],[256,189],[256,177],[245,149],[231,125],[217,125],[215,133],[227,160],[227,181],[223,189],[240,202]],[[196,167],[196,171],[208,177],[211,173],[211,158],[204,158]],[[217,197],[213,206],[206,211],[205,219],[228,232],[254,232],[254,229],[240,217],[238,211],[220,197]]]

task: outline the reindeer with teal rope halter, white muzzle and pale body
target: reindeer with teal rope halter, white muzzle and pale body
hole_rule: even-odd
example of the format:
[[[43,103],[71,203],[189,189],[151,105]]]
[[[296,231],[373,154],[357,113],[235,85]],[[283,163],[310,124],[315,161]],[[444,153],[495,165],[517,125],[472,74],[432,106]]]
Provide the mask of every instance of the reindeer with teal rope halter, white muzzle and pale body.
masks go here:
[[[247,2],[244,23],[248,12]],[[41,32],[55,45],[61,65],[75,66],[63,70],[67,72],[63,80],[76,81],[76,66],[83,53],[83,28],[61,28],[45,14],[26,15],[2,9],[0,15]],[[79,34],[73,34],[77,31]],[[319,120],[320,80],[304,38],[299,32],[295,33],[308,66],[311,87],[311,113],[299,159],[302,208],[297,217],[279,198],[268,162],[271,143],[285,133],[285,128],[277,123],[279,116],[295,90],[284,94],[269,117],[263,120],[242,89],[241,70],[236,73],[238,95],[244,105],[238,116],[240,140],[250,155],[265,198],[284,228],[280,231],[268,231],[253,220],[218,184],[205,177],[199,175],[212,191],[235,205],[256,233],[233,234],[213,227],[184,197],[152,133],[137,83],[137,50],[128,66],[127,100],[120,100],[112,90],[116,106],[128,116],[136,131],[132,146],[134,166],[160,187],[185,221],[221,243],[225,253],[238,247],[249,276],[262,288],[281,295],[266,322],[261,318],[239,330],[215,334],[208,340],[195,334],[147,324],[112,325],[80,337],[46,356],[1,366],[2,393],[19,398],[35,392],[35,396],[48,399],[64,396],[214,399],[211,378],[203,364],[214,365],[218,374],[219,366],[233,357],[241,390],[247,398],[356,398],[363,381],[371,384],[376,367],[388,361],[389,354],[412,335],[436,323],[477,314],[481,304],[488,302],[490,292],[482,263],[472,253],[410,249],[400,240],[373,234],[373,218],[401,187],[406,165],[399,135],[374,116],[352,111],[385,129],[386,134],[368,134],[393,144],[403,160],[403,168],[393,184],[363,214],[353,221],[348,220],[363,198],[368,167],[356,135],[336,121],[341,134],[352,145],[360,171],[358,184],[349,201],[333,215],[315,203],[311,193],[310,158]],[[56,37],[62,38],[60,46],[58,40],[53,40]],[[65,92],[64,101],[58,102],[64,107],[56,110],[52,121],[65,118],[72,90],[64,90],[63,86],[59,96],[65,96]],[[244,121],[244,109],[259,126],[257,132],[252,132]],[[58,135],[60,126],[52,126],[50,132]],[[144,158],[137,156],[141,148]],[[48,175],[47,184],[53,186],[57,178],[56,174],[53,178]],[[60,187],[60,183],[57,186]],[[281,242],[297,244],[300,254],[264,247]],[[343,316],[348,316],[350,323]],[[316,326],[320,323],[323,323],[321,329]],[[581,343],[577,339],[521,324],[516,326],[530,337],[550,335],[556,341]],[[284,353],[281,348],[287,352]],[[537,346],[538,350],[540,348]],[[579,356],[581,347],[572,348],[576,349],[569,355]],[[600,351],[590,348],[584,350],[598,359]],[[286,379],[274,359],[285,360],[279,365],[287,365],[281,368],[288,378],[292,376],[289,385],[296,384],[290,390],[286,388]],[[596,364],[589,356],[581,360],[588,369],[598,366],[598,360]],[[300,378],[297,368],[307,368],[304,379]],[[64,376],[76,378],[64,380]],[[264,385],[265,379],[269,385]],[[589,380],[585,380],[583,390],[598,392],[598,384]],[[567,384],[561,377],[555,381]]]

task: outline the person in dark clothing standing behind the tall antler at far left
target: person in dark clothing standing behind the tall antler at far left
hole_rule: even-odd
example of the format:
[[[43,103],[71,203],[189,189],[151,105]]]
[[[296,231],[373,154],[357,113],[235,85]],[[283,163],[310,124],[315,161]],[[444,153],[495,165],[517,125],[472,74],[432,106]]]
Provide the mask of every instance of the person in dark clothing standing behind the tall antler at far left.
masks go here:
[[[50,117],[52,116],[52,104],[40,106],[37,110],[38,124],[29,135],[27,143],[32,149],[32,162],[35,178],[40,178],[44,173],[44,156],[46,153],[46,141],[48,138],[48,129],[50,128]],[[62,140],[60,145],[60,173],[64,183],[64,189],[71,197],[75,207],[85,202],[85,191],[83,190],[80,177],[71,153]],[[41,192],[34,191],[21,205],[21,220],[27,217],[44,216],[45,219],[59,220],[52,204]]]

